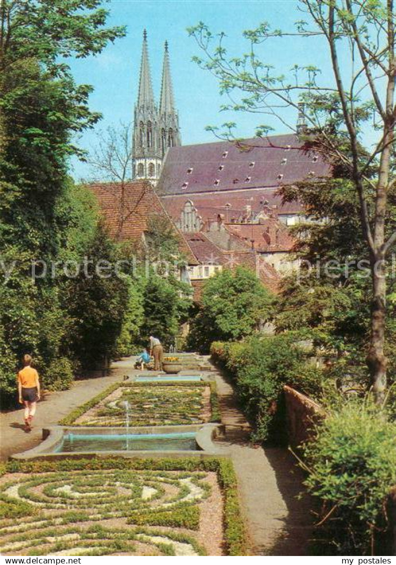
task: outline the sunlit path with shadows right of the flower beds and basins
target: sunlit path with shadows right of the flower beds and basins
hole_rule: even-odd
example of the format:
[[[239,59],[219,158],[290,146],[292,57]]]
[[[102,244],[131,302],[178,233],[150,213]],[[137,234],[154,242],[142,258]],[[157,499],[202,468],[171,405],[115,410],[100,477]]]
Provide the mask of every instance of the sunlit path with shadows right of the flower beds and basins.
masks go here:
[[[312,501],[298,500],[303,473],[287,449],[253,446],[249,424],[236,403],[233,388],[220,373],[217,390],[226,427],[242,507],[248,527],[251,555],[305,555],[312,532]]]

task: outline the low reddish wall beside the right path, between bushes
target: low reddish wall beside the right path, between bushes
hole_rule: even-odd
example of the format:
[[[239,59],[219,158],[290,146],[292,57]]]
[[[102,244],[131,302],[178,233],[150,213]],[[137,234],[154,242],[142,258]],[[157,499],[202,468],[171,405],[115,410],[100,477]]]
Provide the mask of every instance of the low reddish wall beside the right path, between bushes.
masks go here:
[[[287,436],[289,444],[297,447],[312,437],[315,422],[325,417],[325,411],[316,402],[290,386],[284,386],[286,401]]]

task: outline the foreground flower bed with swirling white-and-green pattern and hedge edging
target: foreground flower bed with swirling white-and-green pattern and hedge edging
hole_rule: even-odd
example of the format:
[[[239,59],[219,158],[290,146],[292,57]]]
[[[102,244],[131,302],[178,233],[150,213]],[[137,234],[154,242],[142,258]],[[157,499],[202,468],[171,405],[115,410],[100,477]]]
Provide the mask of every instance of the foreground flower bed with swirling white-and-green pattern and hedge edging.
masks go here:
[[[12,462],[0,503],[2,555],[244,554],[225,460]]]

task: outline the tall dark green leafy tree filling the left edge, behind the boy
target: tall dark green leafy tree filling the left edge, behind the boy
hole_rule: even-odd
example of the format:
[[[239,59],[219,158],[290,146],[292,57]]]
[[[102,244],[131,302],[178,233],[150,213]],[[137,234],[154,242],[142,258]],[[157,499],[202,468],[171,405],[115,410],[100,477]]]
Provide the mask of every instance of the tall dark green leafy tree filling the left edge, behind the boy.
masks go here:
[[[106,29],[106,19],[107,12],[96,0],[3,0],[0,6],[4,402],[14,395],[21,354],[35,355],[44,374],[67,351],[71,330],[63,280],[32,279],[31,266],[70,258],[68,251],[74,258],[83,253],[90,236],[83,241],[85,236],[77,234],[75,219],[84,216],[82,208],[89,229],[95,225],[88,206],[78,204],[71,194],[67,164],[71,154],[81,155],[72,142],[75,134],[92,127],[100,115],[89,110],[92,88],[75,84],[67,58],[100,53],[109,41],[122,36],[122,28]],[[85,224],[79,229],[84,234]]]

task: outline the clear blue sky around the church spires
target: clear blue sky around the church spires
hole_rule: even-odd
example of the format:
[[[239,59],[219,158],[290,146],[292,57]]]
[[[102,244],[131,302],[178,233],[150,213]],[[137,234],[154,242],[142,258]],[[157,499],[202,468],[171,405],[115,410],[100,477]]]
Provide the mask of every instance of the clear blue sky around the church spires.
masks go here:
[[[75,79],[91,84],[94,92],[89,105],[103,114],[95,129],[85,132],[79,145],[90,149],[95,144],[96,131],[117,125],[120,120],[133,119],[134,104],[139,82],[139,68],[143,29],[147,28],[150,66],[154,93],[158,100],[162,71],[163,44],[169,41],[171,74],[174,94],[179,110],[183,145],[216,141],[205,131],[206,125],[221,125],[236,121],[238,136],[249,137],[255,127],[271,123],[278,133],[285,126],[267,117],[254,114],[219,112],[225,103],[218,94],[217,80],[191,61],[200,55],[195,40],[188,37],[186,28],[203,21],[212,32],[227,34],[230,54],[240,55],[247,50],[248,42],[242,37],[245,29],[256,28],[262,21],[274,27],[292,29],[292,24],[302,19],[295,0],[111,0],[109,25],[126,25],[126,37],[110,44],[102,53],[88,59],[70,62]],[[292,64],[325,65],[324,51],[317,40],[283,38],[269,47],[261,47],[262,60],[286,72]],[[294,110],[289,116],[295,121]],[[89,167],[74,159],[71,173],[76,180],[89,177]]]

